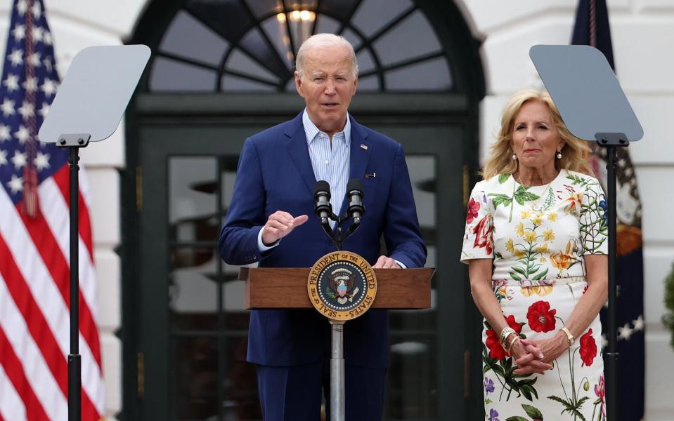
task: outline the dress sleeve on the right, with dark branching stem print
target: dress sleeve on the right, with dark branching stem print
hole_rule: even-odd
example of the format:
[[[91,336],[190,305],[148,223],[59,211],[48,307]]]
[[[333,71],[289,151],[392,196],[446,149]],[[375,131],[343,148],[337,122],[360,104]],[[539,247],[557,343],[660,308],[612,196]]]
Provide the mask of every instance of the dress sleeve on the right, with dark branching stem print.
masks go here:
[[[607,201],[597,180],[588,183],[581,203],[579,225],[583,254],[607,254],[609,227]]]

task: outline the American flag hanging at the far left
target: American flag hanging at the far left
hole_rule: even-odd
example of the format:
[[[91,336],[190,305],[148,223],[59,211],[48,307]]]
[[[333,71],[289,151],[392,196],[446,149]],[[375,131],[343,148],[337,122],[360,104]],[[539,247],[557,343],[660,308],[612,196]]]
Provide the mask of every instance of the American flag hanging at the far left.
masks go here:
[[[56,89],[42,0],[15,0],[0,82],[0,421],[67,420],[66,150],[37,141]],[[103,415],[89,191],[79,177],[82,420]]]

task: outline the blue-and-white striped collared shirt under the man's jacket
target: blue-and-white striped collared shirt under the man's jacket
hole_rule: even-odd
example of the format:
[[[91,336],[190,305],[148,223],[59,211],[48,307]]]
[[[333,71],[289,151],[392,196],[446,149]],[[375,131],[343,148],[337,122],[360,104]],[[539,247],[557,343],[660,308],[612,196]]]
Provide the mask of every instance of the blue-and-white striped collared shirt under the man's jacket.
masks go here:
[[[309,159],[316,180],[325,180],[330,185],[330,204],[332,212],[339,215],[346,194],[346,182],[349,180],[349,156],[351,147],[351,121],[346,116],[344,130],[332,135],[332,146],[328,133],[322,132],[309,119],[306,108],[302,113],[302,125],[309,146]],[[335,228],[336,222],[330,221]]]

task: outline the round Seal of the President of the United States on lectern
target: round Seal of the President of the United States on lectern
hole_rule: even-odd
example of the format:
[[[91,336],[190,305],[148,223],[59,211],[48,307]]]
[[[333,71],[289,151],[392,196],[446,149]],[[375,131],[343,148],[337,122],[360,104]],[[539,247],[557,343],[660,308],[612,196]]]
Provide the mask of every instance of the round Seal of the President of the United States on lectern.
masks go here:
[[[367,260],[349,251],[335,251],[311,267],[307,289],[320,314],[349,321],[367,312],[375,301],[377,279]]]

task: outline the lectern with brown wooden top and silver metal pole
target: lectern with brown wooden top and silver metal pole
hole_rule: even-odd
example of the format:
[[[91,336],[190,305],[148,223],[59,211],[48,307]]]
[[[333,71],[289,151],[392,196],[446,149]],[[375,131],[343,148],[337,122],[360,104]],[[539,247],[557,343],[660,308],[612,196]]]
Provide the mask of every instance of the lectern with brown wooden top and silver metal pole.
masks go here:
[[[431,278],[435,269],[372,269],[376,295],[370,309],[427,309],[431,307]],[[241,268],[246,309],[311,309],[307,293],[309,267]],[[367,311],[367,310],[365,310]],[[330,320],[330,419],[344,421],[344,321]],[[349,323],[346,323],[348,329]]]

